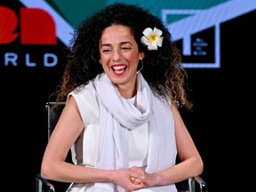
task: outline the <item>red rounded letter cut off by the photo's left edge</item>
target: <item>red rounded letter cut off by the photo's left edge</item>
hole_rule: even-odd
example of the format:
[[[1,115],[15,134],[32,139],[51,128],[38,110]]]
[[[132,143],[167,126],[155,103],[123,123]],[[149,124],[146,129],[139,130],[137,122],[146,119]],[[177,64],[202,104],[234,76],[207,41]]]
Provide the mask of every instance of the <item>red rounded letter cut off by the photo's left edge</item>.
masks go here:
[[[18,36],[14,32],[18,25],[18,18],[12,10],[0,6],[0,44],[10,44]]]

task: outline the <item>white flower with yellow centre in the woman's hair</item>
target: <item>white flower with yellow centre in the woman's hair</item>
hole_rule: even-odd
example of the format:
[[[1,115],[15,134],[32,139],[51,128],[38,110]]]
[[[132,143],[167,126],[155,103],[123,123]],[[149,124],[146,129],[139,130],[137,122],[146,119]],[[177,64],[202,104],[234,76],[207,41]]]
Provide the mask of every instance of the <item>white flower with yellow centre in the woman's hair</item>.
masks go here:
[[[142,44],[148,45],[148,50],[157,50],[157,46],[161,47],[163,44],[162,31],[158,28],[145,28],[143,30],[143,35],[140,38]]]

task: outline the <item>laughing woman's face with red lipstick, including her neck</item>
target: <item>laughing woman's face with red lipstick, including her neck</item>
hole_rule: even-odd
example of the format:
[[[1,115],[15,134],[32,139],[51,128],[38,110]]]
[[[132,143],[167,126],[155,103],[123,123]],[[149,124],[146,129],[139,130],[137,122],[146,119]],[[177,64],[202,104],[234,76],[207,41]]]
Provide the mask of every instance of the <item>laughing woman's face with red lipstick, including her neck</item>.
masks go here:
[[[124,98],[134,96],[138,63],[143,58],[130,28],[114,25],[103,31],[100,64]]]

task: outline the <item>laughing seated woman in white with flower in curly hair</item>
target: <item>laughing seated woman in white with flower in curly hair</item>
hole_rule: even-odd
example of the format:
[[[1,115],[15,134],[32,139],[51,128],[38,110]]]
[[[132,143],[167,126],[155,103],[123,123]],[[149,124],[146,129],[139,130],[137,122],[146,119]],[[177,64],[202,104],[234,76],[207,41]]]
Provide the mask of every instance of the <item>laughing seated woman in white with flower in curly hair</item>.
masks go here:
[[[203,172],[183,123],[186,72],[163,22],[111,4],[76,30],[57,101],[67,100],[44,152],[45,179],[67,191],[177,191]],[[74,164],[65,162],[71,148]],[[179,163],[176,163],[176,157]]]

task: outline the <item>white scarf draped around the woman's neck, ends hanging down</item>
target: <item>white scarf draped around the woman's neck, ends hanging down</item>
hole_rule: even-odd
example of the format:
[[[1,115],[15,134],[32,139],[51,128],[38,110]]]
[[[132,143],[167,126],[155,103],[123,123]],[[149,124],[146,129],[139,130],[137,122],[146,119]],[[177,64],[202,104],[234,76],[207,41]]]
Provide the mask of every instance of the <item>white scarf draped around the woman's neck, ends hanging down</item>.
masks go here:
[[[137,106],[125,100],[106,74],[94,81],[100,103],[100,152],[96,168],[129,168],[128,130],[148,122],[148,165],[146,172],[156,172],[175,164],[176,144],[171,106],[153,94],[141,74],[137,80]],[[173,185],[150,188],[152,191],[176,191]],[[113,183],[98,182],[95,192],[123,192]]]

